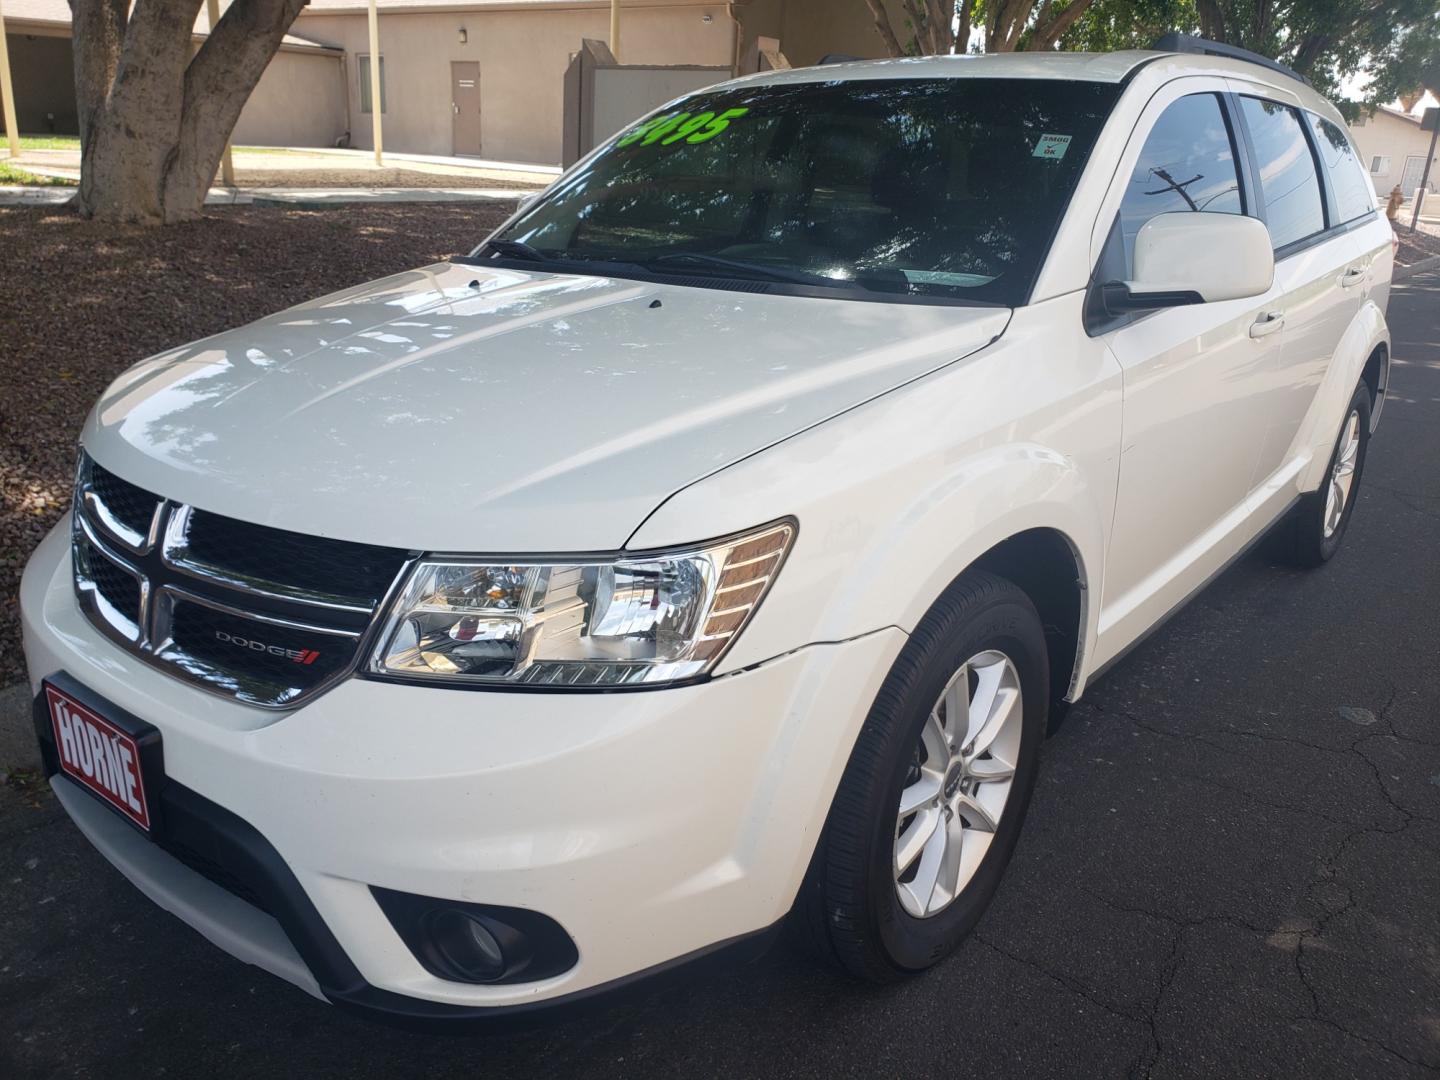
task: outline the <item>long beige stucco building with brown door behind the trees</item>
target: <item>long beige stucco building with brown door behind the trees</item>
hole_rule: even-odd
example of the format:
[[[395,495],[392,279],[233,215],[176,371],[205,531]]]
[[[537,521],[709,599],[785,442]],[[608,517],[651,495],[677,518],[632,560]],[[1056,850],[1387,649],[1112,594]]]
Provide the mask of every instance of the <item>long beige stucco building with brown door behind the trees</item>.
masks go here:
[[[20,130],[75,132],[66,0],[4,0],[4,13]],[[384,148],[560,161],[566,69],[585,39],[609,37],[609,19],[611,0],[379,0]],[[206,29],[202,13],[197,45]],[[778,40],[793,66],[825,53],[881,53],[864,0],[621,3],[626,66],[704,68],[719,81],[753,63],[760,37]],[[235,141],[372,147],[369,65],[366,1],[311,0],[246,104]],[[675,78],[687,89],[696,82]]]

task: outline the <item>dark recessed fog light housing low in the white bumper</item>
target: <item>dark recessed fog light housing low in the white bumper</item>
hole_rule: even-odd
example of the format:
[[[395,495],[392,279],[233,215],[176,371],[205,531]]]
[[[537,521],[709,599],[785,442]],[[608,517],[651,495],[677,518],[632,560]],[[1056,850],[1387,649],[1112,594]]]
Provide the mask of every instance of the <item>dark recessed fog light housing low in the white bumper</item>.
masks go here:
[[[370,893],[420,966],[449,982],[537,982],[567,972],[579,959],[570,935],[539,912],[390,888]]]

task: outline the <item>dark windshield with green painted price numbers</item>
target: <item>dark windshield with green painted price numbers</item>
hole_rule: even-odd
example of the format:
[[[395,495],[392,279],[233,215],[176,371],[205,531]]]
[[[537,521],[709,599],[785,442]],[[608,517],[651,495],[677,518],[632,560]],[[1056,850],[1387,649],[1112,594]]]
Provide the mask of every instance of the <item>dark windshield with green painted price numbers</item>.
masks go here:
[[[701,92],[624,131],[482,252],[1022,304],[1116,94],[971,78]]]

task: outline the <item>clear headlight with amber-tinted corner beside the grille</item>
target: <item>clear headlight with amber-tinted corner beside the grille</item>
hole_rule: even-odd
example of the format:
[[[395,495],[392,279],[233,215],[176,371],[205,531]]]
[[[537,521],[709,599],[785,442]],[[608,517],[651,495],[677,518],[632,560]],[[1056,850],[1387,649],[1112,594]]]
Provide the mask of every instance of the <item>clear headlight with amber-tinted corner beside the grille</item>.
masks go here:
[[[785,560],[780,523],[700,547],[606,560],[415,566],[370,670],[438,683],[612,687],[704,674]]]

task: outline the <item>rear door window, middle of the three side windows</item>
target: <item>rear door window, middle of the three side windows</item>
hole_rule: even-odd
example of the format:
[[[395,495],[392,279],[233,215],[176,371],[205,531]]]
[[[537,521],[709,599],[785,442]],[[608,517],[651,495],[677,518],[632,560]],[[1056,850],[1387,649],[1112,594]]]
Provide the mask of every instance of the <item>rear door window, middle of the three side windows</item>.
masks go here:
[[[1240,101],[1260,168],[1270,242],[1279,251],[1323,232],[1320,179],[1315,173],[1315,156],[1300,127],[1300,117],[1289,105],[1273,101]]]

